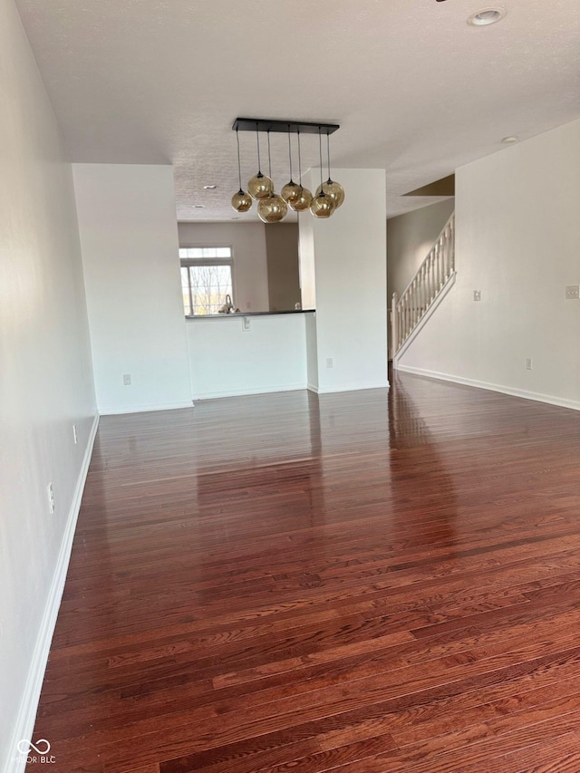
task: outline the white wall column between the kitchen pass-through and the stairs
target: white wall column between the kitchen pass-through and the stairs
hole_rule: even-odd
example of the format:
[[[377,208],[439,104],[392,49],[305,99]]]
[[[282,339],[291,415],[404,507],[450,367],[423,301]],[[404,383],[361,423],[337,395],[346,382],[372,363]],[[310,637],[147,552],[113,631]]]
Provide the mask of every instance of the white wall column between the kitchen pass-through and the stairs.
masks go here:
[[[306,179],[313,190],[318,174]],[[328,220],[299,219],[304,304],[315,295],[318,390],[386,387],[384,169],[333,169],[333,179],[345,189],[343,206]],[[314,386],[316,374],[308,380]]]

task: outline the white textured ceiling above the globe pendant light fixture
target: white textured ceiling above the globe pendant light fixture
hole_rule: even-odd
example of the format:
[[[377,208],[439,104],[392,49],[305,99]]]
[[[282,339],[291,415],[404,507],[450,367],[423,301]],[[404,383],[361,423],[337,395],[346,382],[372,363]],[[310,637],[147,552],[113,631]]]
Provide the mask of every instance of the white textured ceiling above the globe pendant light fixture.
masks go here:
[[[488,27],[466,24],[488,0],[16,5],[70,159],[173,163],[181,220],[235,216],[240,115],[340,123],[333,166],[385,169],[390,216],[430,203],[400,197],[501,138],[580,117],[578,0],[506,0]],[[272,141],[279,188],[286,140]],[[240,142],[245,184],[256,145],[249,133]],[[304,138],[303,169],[317,158]]]

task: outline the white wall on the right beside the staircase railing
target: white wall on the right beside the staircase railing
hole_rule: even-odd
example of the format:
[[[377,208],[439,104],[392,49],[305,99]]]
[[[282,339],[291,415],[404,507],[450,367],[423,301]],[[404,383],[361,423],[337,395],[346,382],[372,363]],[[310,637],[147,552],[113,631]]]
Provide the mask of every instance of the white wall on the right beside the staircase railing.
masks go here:
[[[458,169],[457,283],[401,366],[580,408],[579,212],[580,121]]]

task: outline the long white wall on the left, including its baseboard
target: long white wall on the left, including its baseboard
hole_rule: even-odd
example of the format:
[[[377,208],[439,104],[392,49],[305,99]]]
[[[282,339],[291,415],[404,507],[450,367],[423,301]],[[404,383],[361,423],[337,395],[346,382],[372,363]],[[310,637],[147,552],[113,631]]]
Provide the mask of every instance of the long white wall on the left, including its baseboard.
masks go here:
[[[0,769],[15,771],[24,769],[15,744],[33,730],[96,408],[73,176],[12,0],[0,0],[0,92]]]

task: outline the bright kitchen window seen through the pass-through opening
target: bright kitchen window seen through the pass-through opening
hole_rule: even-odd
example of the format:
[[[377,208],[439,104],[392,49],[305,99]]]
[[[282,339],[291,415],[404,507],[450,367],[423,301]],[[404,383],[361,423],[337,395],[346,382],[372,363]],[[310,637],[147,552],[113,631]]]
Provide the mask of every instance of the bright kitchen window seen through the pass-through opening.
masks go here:
[[[218,314],[226,295],[234,295],[231,247],[182,247],[179,259],[186,316]]]

